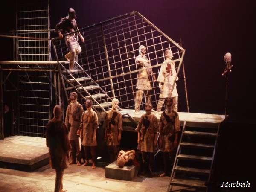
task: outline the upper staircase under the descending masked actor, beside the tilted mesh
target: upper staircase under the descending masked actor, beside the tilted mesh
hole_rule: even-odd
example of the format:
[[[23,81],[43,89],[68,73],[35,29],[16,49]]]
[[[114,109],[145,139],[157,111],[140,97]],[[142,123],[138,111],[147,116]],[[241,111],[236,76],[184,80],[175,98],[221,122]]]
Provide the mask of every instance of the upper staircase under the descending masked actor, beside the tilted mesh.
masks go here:
[[[61,62],[58,62],[58,65],[67,100],[68,92],[76,91],[80,95],[79,102],[82,104],[86,99],[91,99],[93,101],[93,109],[98,113],[106,112],[112,106],[111,97],[77,62],[75,62],[76,69],[73,70],[67,70]]]

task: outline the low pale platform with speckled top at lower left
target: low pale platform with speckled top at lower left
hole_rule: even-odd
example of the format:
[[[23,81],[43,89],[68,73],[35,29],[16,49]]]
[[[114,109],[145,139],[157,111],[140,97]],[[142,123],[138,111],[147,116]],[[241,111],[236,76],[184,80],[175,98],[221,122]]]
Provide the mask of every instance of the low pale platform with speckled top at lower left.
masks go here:
[[[0,167],[31,172],[48,163],[45,138],[12,136],[0,140]]]

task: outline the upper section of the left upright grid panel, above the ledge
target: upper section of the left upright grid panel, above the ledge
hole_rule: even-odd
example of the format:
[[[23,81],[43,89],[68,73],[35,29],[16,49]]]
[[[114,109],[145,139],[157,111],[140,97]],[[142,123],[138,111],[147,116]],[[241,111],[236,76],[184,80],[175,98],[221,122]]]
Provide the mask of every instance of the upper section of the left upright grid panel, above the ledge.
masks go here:
[[[49,38],[48,0],[17,1],[17,36]],[[17,60],[48,61],[49,41],[17,39]]]

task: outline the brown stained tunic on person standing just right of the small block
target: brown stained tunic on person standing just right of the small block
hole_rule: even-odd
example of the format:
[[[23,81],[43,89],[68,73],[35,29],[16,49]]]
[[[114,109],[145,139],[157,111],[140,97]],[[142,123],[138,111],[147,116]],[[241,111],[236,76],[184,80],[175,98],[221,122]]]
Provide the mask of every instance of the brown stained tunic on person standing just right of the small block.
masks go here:
[[[154,114],[140,117],[136,131],[140,132],[138,149],[143,152],[154,152],[154,137],[157,134],[158,122]]]

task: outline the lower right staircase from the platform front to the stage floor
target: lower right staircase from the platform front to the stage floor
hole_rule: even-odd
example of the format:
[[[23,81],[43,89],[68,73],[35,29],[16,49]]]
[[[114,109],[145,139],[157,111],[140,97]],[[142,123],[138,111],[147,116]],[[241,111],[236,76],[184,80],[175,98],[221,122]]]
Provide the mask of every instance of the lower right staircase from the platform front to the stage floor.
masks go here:
[[[172,186],[208,191],[219,127],[218,123],[184,122],[167,192]]]

